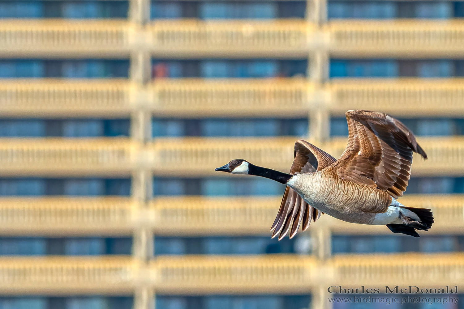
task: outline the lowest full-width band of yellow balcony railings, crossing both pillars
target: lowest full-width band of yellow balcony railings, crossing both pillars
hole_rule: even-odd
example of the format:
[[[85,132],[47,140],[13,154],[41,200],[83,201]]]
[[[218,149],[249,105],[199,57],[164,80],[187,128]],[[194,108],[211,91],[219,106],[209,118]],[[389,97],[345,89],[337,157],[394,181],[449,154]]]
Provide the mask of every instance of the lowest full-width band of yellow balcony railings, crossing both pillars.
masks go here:
[[[120,295],[137,284],[158,293],[310,293],[330,285],[440,288],[464,283],[464,256],[448,254],[308,256],[160,256],[148,266],[129,257],[0,258],[2,295]]]

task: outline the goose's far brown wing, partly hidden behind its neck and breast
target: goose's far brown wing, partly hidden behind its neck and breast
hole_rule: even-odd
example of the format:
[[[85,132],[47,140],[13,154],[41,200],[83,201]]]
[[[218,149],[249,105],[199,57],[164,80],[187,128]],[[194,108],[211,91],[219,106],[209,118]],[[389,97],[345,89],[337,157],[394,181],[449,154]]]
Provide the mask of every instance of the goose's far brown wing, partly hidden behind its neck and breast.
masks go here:
[[[309,173],[322,170],[333,164],[336,160],[327,152],[300,139],[295,142],[295,160],[290,169],[290,174]],[[290,230],[290,238],[296,235],[303,222],[303,231],[309,227],[309,223],[316,221],[322,212],[303,201],[301,196],[290,187],[285,188],[284,197],[280,203],[276,220],[271,227],[272,238],[279,235],[279,240],[285,237]]]

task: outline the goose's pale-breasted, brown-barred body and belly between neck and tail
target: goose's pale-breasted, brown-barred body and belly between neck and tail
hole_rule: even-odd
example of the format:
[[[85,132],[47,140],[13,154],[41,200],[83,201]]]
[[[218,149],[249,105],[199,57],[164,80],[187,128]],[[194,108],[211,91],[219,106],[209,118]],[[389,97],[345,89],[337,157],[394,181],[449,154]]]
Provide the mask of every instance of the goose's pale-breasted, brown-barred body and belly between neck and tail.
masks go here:
[[[314,208],[350,223],[375,224],[376,214],[385,213],[392,201],[386,192],[379,189],[338,177],[330,178],[331,181],[324,181],[322,175],[319,181],[307,182],[296,191]]]

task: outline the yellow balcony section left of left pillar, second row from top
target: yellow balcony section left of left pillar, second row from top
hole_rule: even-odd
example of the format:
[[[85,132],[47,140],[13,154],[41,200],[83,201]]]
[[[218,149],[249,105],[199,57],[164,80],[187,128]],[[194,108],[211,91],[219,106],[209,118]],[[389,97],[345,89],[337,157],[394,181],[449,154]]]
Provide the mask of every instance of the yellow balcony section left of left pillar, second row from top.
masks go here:
[[[129,115],[131,88],[121,80],[14,79],[0,82],[6,117]]]

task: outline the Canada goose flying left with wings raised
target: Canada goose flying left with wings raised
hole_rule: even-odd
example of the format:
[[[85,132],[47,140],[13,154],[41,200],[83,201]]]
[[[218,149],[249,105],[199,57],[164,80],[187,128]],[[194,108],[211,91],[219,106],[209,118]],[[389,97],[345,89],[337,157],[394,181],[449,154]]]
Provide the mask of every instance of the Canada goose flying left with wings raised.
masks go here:
[[[361,224],[386,225],[393,233],[419,237],[432,227],[430,209],[397,202],[410,177],[412,152],[427,158],[414,134],[393,117],[365,110],[346,112],[348,145],[335,160],[304,140],[295,142],[290,174],[235,159],[216,171],[270,178],[287,185],[272,224],[272,237],[290,238],[321,214]]]

